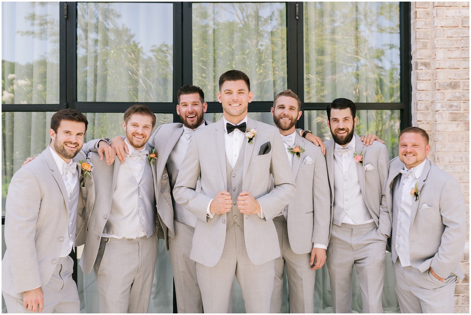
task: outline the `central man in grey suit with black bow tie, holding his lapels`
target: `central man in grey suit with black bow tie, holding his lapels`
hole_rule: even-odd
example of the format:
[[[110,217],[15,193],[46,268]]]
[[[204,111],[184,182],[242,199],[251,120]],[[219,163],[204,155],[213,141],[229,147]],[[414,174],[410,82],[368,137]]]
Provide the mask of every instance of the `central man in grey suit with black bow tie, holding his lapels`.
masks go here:
[[[173,189],[175,201],[198,218],[190,258],[206,313],[229,311],[234,275],[248,313],[270,310],[280,256],[272,219],[295,186],[278,129],[247,117],[252,98],[245,73],[220,76],[224,118],[195,132]],[[270,175],[275,189],[268,193]]]

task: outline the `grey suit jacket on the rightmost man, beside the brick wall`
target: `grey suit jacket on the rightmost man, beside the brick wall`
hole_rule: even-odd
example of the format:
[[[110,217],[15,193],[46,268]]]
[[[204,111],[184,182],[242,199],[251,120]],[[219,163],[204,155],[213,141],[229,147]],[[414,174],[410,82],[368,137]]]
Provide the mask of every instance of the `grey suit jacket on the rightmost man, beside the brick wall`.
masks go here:
[[[399,170],[404,164],[396,157],[390,162],[388,178],[388,203],[392,209],[395,180],[400,180]],[[409,230],[409,252],[412,267],[421,272],[432,267],[442,278],[450,274],[463,278],[460,260],[466,240],[466,209],[460,184],[447,172],[427,160],[425,168],[417,181],[419,199],[412,202]],[[428,207],[424,206],[426,204]],[[393,211],[392,251],[396,260],[398,253],[394,246],[398,214]]]

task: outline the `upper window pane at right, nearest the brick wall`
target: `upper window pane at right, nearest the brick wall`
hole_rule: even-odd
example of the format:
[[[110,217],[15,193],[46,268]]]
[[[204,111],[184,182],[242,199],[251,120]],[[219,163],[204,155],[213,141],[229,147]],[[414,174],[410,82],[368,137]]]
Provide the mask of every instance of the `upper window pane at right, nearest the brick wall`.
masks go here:
[[[398,2],[304,2],[304,101],[400,102]]]

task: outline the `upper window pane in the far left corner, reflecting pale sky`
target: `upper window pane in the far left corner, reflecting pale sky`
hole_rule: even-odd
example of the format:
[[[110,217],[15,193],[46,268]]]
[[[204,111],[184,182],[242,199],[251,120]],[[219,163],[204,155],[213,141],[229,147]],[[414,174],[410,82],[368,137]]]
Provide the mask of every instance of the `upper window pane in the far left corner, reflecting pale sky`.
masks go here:
[[[58,104],[59,2],[1,7],[1,104]]]

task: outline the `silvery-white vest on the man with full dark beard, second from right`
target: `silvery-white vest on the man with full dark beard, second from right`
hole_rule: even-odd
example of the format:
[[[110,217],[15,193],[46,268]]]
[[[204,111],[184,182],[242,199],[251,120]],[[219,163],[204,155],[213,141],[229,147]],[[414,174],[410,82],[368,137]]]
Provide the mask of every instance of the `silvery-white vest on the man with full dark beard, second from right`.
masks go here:
[[[337,157],[334,155],[334,159],[336,158]],[[333,169],[333,223],[340,226],[346,215],[356,224],[363,224],[371,220],[370,211],[368,211],[365,201],[363,200],[363,195],[361,194],[355,159],[352,159],[350,162],[349,170],[345,176],[336,161],[334,161]]]

